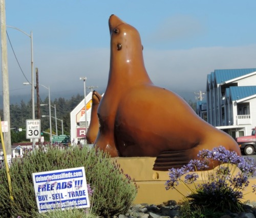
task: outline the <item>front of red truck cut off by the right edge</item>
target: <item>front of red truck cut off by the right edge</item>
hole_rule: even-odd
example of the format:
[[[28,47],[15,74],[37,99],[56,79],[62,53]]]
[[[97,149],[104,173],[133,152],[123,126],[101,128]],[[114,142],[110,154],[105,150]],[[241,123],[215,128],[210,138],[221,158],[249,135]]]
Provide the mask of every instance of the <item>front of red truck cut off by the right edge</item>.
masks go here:
[[[253,155],[256,151],[256,128],[252,129],[251,135],[237,137],[236,141],[245,155]]]

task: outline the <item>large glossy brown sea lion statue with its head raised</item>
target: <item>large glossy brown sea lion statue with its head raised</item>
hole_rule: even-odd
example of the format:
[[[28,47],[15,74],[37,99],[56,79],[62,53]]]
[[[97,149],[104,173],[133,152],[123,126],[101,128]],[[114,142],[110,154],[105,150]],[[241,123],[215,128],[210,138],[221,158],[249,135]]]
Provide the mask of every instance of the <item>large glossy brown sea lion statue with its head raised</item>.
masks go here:
[[[110,71],[98,108],[96,149],[112,157],[156,157],[158,171],[183,166],[203,149],[223,146],[241,155],[231,136],[206,123],[180,96],[152,83],[134,27],[111,15],[109,28]]]

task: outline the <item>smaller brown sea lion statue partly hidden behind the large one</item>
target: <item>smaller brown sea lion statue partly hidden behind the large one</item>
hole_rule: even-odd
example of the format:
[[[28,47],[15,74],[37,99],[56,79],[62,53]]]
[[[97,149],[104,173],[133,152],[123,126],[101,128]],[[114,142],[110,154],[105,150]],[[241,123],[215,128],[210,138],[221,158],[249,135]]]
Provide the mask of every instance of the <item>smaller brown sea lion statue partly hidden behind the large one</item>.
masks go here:
[[[86,133],[87,143],[93,144],[99,131],[99,120],[97,116],[97,110],[102,96],[97,92],[93,91],[92,94],[92,110],[91,110],[91,121],[89,128]]]

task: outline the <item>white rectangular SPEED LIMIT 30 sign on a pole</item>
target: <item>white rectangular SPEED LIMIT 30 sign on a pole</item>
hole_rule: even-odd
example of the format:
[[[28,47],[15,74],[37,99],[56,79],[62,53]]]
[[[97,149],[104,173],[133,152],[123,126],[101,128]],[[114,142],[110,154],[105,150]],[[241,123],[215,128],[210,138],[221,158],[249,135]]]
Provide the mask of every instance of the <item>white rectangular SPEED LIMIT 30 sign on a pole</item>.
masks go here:
[[[26,138],[41,137],[41,120],[27,119],[26,120]]]

